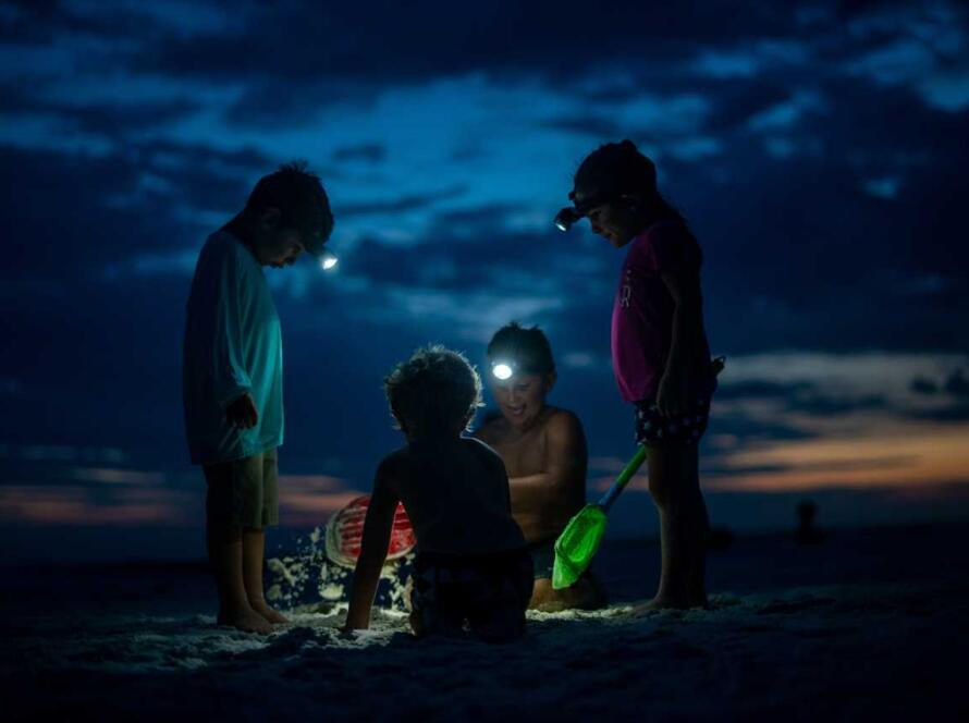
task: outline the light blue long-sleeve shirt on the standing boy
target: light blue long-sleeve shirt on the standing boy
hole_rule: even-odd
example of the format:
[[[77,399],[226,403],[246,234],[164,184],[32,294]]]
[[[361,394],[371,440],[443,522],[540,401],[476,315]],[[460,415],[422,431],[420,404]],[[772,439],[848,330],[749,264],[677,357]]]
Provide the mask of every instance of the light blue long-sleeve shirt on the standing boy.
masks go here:
[[[192,280],[182,391],[193,464],[217,464],[283,443],[283,344],[269,283],[235,236],[208,237]],[[225,406],[248,393],[259,419],[237,429]]]

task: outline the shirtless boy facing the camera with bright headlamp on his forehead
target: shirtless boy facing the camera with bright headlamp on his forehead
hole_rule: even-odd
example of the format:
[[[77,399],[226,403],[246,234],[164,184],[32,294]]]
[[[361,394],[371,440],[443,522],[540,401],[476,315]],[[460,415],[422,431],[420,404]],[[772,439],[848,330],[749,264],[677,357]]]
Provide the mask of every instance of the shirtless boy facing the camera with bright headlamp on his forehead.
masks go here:
[[[556,379],[549,340],[538,327],[524,329],[513,322],[492,336],[488,358],[501,416],[487,421],[475,437],[501,455],[508,473],[512,514],[535,565],[529,608],[600,608],[605,596],[591,575],[564,590],[552,589],[555,540],[586,503],[588,452],[578,417],[545,404]]]

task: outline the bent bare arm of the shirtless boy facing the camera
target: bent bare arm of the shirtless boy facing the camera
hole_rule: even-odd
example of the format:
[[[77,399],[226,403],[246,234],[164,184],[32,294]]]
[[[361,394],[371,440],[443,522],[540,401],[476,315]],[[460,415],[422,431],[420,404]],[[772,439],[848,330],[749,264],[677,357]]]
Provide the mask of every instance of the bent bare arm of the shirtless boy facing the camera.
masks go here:
[[[585,502],[588,451],[581,424],[574,415],[560,412],[549,420],[547,440],[547,468],[508,479],[513,511]]]

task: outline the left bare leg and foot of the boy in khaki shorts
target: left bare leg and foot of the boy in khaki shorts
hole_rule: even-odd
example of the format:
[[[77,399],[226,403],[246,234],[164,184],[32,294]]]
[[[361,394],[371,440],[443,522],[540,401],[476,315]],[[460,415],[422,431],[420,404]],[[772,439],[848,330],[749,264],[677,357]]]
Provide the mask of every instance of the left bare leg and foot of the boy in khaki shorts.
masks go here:
[[[219,591],[220,625],[231,625],[246,633],[267,635],[272,627],[256,613],[243,585],[242,530],[234,525],[209,522],[206,528],[209,564]]]

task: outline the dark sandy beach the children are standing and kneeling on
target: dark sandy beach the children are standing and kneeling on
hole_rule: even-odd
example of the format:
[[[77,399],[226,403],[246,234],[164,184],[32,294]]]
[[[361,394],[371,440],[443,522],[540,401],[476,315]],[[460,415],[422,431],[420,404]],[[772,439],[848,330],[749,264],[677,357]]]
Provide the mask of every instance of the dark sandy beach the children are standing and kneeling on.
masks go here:
[[[740,538],[711,556],[710,610],[640,617],[657,550],[614,543],[608,610],[530,613],[507,646],[418,641],[393,612],[345,636],[339,605],[244,635],[205,614],[197,566],[101,568],[86,587],[78,571],[8,571],[4,699],[15,720],[965,720],[967,532]],[[72,605],[59,586],[86,592]]]

